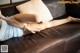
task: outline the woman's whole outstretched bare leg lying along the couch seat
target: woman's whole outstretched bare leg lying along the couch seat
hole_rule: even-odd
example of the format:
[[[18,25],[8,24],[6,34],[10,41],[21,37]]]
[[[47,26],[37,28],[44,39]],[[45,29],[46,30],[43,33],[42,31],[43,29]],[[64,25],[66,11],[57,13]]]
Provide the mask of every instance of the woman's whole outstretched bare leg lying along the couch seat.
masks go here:
[[[55,26],[59,26],[68,22],[72,22],[72,21],[80,21],[80,19],[77,18],[73,18],[73,17],[68,17],[65,19],[61,19],[61,20],[53,20],[47,23],[42,23],[42,24],[30,24],[30,26],[27,26],[27,28],[29,28],[29,30],[31,31],[41,31],[44,30],[46,28],[50,28],[50,27],[55,27]]]

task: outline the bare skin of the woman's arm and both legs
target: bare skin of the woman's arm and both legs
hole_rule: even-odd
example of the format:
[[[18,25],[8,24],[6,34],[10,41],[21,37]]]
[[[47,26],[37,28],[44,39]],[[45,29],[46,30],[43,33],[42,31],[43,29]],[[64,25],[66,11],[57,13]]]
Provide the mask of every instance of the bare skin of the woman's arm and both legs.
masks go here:
[[[41,1],[41,0],[30,0],[30,1]],[[37,23],[36,15],[34,14],[16,14],[16,15],[13,15],[13,18],[12,17],[5,18],[1,14],[1,12],[0,12],[0,19],[3,19],[8,24],[19,27],[21,29],[25,27],[26,30],[23,30],[23,31],[26,33],[28,33],[28,31],[35,33],[36,31],[41,31],[46,28],[55,27],[71,21],[79,20],[69,16],[68,18],[61,19],[61,20],[53,20],[47,23]],[[1,26],[1,21],[0,21],[0,26]]]

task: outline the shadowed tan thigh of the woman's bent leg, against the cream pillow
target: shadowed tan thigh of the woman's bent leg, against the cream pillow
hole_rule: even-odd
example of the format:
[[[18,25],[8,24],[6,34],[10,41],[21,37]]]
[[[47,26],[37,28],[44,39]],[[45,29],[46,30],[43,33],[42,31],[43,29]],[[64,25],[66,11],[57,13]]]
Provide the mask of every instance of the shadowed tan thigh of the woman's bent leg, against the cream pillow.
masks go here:
[[[16,14],[13,16],[19,22],[37,22],[34,14]]]

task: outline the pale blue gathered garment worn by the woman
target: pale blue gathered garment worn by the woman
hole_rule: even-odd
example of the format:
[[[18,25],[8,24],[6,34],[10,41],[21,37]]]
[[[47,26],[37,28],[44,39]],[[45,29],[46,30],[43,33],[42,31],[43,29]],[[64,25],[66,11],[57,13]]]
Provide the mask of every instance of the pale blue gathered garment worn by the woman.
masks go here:
[[[12,37],[21,37],[23,30],[12,25],[9,25],[6,21],[1,20],[2,25],[0,29],[0,41],[5,41]]]

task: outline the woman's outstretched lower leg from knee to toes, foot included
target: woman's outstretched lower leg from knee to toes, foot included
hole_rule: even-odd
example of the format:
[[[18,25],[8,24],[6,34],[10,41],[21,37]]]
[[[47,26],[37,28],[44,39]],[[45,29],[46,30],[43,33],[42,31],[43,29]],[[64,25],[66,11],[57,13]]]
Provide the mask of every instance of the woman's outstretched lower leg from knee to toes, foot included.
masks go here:
[[[69,16],[65,19],[53,20],[46,24],[44,23],[44,25],[46,25],[46,28],[50,28],[50,27],[59,26],[59,25],[62,25],[62,24],[68,23],[68,22],[80,22],[80,19]]]

